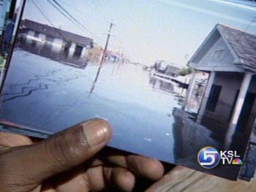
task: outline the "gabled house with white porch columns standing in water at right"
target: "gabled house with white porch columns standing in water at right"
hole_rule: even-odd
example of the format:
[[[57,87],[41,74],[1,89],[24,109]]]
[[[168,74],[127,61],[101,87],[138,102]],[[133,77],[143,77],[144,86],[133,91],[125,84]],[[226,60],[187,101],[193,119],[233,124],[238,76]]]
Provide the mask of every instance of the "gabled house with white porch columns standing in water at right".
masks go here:
[[[249,145],[256,151],[256,36],[217,24],[189,65],[194,73],[209,74],[197,123],[226,133],[226,139],[234,133],[250,137]],[[254,158],[247,170],[255,170],[255,164]]]

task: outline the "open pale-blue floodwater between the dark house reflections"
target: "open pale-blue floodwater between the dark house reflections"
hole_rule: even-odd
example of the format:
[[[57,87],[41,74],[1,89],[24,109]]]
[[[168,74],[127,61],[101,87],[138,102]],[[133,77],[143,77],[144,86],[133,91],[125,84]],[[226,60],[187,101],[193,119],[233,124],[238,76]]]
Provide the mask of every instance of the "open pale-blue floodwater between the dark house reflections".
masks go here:
[[[48,134],[106,118],[114,129],[110,146],[173,161],[171,114],[174,107],[181,108],[173,85],[151,78],[142,66],[109,63],[89,93],[98,66],[78,68],[49,59],[15,50],[1,118]]]

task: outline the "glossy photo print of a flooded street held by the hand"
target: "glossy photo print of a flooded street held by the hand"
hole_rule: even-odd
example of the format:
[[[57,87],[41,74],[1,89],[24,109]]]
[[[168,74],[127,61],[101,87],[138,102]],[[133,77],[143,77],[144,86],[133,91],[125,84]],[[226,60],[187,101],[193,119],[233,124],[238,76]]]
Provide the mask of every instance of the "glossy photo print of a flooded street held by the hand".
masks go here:
[[[253,177],[254,2],[20,4],[1,130],[48,137],[104,118],[110,147],[229,180]]]

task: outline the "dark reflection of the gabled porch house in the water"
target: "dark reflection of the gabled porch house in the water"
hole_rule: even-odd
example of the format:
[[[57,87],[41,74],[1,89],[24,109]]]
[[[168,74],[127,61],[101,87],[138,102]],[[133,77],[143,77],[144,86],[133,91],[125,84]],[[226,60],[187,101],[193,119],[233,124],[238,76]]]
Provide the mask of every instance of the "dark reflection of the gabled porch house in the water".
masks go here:
[[[173,155],[175,156],[176,164],[230,180],[237,179],[241,166],[219,164],[214,169],[203,169],[197,163],[197,153],[201,148],[211,146],[218,150],[236,150],[240,158],[244,159],[246,145],[250,137],[249,134],[236,131],[232,137],[227,138],[228,128],[219,131],[223,127],[222,124],[215,123],[215,128],[213,129],[206,126],[210,122],[205,121],[203,126],[195,122],[195,115],[176,108],[173,110],[173,118],[173,138],[175,141]],[[252,145],[249,146],[252,147]],[[255,156],[250,155],[249,158],[250,161],[255,162]],[[243,172],[243,174],[248,175],[250,170],[245,167]]]

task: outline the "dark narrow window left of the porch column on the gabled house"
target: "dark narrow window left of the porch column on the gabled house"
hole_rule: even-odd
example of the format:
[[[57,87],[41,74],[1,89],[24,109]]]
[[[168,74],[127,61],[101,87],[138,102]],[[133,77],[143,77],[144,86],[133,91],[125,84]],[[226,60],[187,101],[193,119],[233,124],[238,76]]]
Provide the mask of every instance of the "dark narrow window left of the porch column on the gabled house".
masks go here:
[[[222,90],[222,86],[220,85],[212,85],[211,87],[211,93],[206,105],[206,109],[214,112],[217,106],[217,102],[219,100],[219,94],[220,91]]]

